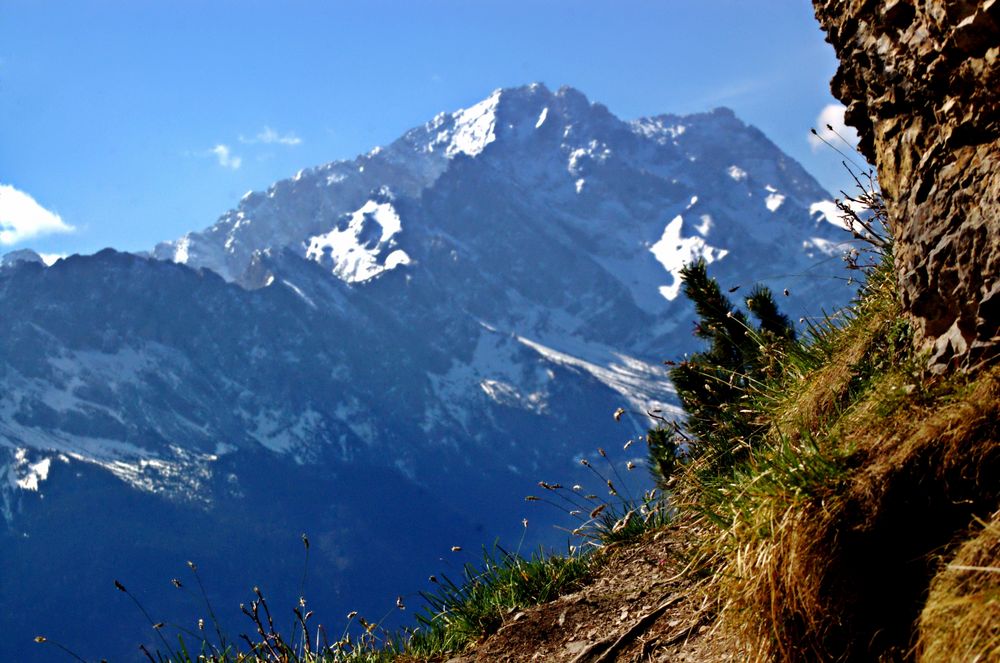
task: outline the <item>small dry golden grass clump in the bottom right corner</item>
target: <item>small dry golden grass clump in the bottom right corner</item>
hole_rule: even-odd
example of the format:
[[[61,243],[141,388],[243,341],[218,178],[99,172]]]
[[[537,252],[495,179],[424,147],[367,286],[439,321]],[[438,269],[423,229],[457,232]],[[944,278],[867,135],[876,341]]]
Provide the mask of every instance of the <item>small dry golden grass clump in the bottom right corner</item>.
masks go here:
[[[1000,512],[934,577],[920,615],[919,660],[1000,660]]]

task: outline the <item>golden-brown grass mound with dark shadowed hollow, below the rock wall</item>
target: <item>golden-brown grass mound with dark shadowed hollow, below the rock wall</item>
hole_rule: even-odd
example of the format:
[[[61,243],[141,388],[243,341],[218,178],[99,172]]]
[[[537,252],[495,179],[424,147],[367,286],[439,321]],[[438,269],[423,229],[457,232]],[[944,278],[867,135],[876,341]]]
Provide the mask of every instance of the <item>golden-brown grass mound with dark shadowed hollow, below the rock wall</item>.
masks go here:
[[[710,563],[756,660],[911,659],[934,555],[1000,505],[1000,368],[969,381],[893,366],[850,393],[887,313],[792,385],[767,448],[723,489]]]

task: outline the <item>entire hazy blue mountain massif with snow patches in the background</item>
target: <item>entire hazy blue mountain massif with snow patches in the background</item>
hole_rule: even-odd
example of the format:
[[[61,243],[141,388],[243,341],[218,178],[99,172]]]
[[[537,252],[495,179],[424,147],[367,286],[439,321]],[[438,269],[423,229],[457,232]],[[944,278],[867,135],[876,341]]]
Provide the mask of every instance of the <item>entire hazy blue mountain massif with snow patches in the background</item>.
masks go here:
[[[88,587],[107,560],[153,582],[199,535],[240,551],[218,553],[229,605],[294,575],[265,562],[303,530],[325,542],[312,596],[384,605],[454,543],[520,528],[535,481],[677,413],[686,262],[788,289],[795,318],[846,302],[827,198],[728,110],[627,122],[531,85],[248,193],[152,258],[4,261],[0,624],[48,614],[30,583],[66,595],[38,560],[83,546]]]

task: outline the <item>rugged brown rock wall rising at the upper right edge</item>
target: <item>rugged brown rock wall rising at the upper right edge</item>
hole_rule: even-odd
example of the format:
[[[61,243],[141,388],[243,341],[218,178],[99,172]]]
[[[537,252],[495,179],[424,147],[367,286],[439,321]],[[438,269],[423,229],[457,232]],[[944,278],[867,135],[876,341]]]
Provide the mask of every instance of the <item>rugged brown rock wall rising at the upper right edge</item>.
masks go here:
[[[1000,0],[814,0],[932,363],[1000,356]]]

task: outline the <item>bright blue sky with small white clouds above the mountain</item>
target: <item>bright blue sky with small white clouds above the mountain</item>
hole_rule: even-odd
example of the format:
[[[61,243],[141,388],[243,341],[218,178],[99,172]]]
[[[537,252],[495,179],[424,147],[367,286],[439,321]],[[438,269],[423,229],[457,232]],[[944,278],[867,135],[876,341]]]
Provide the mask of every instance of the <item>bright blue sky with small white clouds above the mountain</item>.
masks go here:
[[[3,0],[0,253],[148,249],[533,81],[625,119],[729,106],[832,189],[835,67],[810,0]]]

